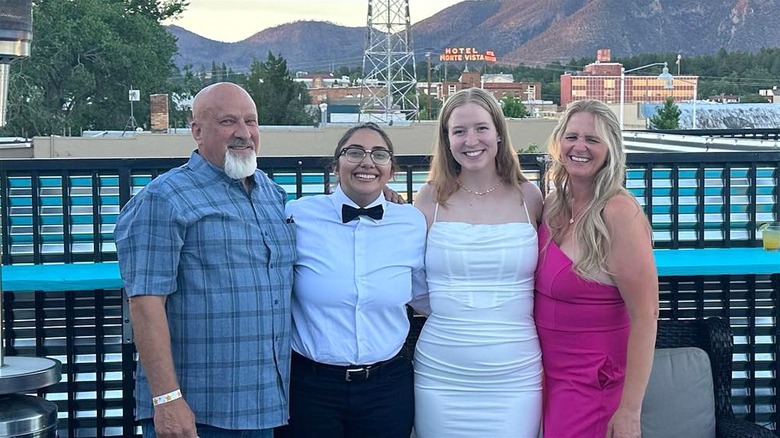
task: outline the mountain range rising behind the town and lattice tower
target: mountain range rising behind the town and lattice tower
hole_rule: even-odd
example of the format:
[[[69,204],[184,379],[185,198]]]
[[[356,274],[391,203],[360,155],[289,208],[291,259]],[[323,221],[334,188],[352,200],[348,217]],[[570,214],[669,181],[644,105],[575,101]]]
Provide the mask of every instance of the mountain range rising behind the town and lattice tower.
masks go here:
[[[684,56],[780,47],[780,0],[467,0],[412,27],[417,60],[445,47],[492,49],[499,63],[537,65],[593,57],[679,52]],[[281,53],[291,70],[325,71],[362,63],[364,27],[299,21],[221,43],[177,26],[179,66],[225,63]]]

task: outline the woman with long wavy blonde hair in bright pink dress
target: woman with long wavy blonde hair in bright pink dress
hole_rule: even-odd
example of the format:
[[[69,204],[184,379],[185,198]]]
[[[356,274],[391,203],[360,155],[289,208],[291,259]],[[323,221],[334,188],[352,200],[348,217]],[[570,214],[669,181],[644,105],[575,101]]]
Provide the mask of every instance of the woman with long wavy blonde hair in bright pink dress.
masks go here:
[[[539,231],[534,305],[544,436],[639,438],[658,277],[650,225],[623,187],[618,121],[601,102],[574,102],[548,152],[555,190]]]

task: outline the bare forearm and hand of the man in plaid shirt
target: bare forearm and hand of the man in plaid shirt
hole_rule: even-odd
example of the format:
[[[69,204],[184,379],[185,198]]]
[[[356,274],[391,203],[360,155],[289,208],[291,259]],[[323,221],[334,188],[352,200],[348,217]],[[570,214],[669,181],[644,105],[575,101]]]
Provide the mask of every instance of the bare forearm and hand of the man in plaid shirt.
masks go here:
[[[171,355],[165,299],[165,296],[153,295],[130,298],[135,345],[154,397],[179,389]],[[154,407],[154,429],[159,438],[197,436],[195,416],[184,398]]]

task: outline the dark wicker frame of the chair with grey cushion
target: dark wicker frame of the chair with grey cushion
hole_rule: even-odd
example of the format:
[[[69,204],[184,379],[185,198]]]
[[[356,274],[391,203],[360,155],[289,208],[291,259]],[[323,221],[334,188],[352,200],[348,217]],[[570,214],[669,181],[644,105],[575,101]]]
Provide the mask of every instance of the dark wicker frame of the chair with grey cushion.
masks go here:
[[[734,416],[731,407],[732,335],[728,322],[721,318],[658,321],[655,347],[698,347],[707,352],[712,366],[718,438],[775,437],[768,429]]]

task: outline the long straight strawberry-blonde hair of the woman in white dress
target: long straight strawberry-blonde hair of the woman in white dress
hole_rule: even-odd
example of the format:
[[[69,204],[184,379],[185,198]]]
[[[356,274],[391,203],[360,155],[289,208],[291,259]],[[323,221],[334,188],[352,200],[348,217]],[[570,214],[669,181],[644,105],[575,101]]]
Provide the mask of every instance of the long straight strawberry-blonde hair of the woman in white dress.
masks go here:
[[[517,151],[512,147],[506,118],[504,118],[504,112],[501,111],[498,101],[492,94],[481,88],[467,88],[453,94],[444,102],[436,128],[436,140],[433,147],[431,170],[428,173],[428,182],[433,184],[436,202],[442,205],[446,205],[450,196],[458,190],[457,179],[461,170],[460,164],[455,161],[455,157],[452,156],[452,151],[450,151],[447,125],[455,108],[467,103],[475,103],[487,111],[493,120],[493,125],[496,127],[500,140],[496,151],[496,171],[498,176],[510,184],[520,185],[528,181],[520,167]]]

